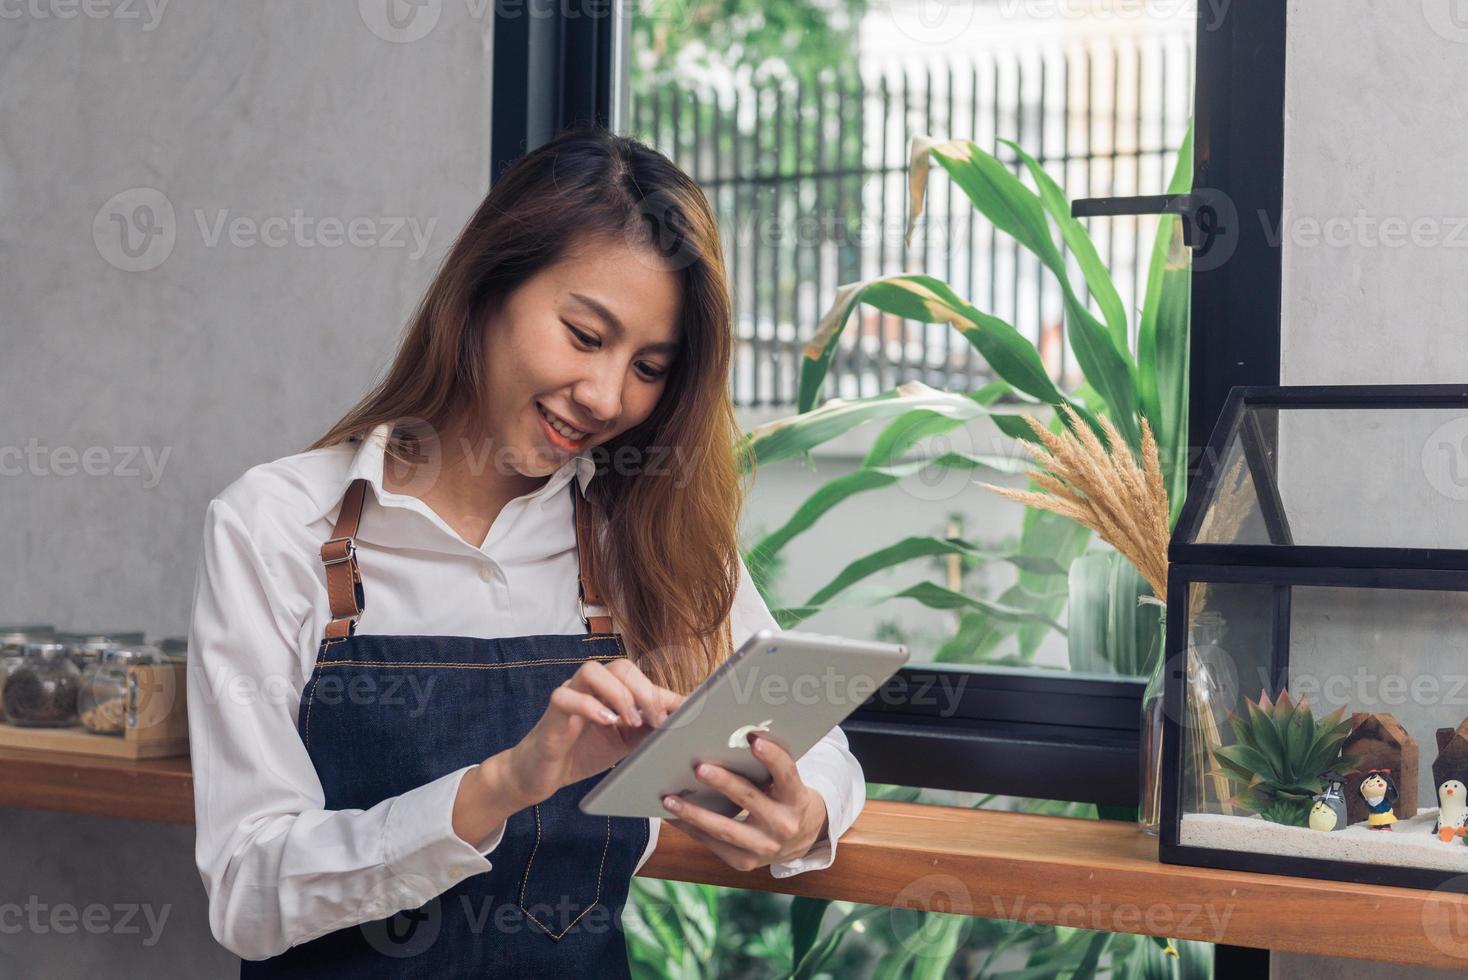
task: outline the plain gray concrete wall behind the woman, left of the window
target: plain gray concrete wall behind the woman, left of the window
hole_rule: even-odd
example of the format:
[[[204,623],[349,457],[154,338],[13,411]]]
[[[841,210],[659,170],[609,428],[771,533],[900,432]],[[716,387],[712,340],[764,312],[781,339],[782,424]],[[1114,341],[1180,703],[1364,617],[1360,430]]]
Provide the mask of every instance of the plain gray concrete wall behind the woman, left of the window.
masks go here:
[[[0,456],[0,622],[173,635],[206,502],[366,390],[482,198],[492,22],[445,3],[405,41],[427,19],[371,3],[88,6],[109,16],[0,21],[0,446],[25,453]],[[191,826],[0,810],[0,902],[113,910],[0,933],[0,976],[235,970]]]

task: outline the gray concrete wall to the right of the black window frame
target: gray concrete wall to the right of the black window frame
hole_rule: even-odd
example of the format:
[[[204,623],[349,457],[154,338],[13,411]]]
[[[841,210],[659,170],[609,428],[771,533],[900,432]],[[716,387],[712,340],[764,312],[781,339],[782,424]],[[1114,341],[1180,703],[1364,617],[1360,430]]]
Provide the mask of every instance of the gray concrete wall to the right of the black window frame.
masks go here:
[[[1468,282],[1468,185],[1462,180],[1468,160],[1468,104],[1462,100],[1468,25],[1455,25],[1458,9],[1453,0],[1289,3],[1282,239],[1286,384],[1468,380],[1468,317],[1462,312]],[[1392,223],[1381,224],[1387,219]],[[1321,443],[1321,456],[1352,456],[1355,433],[1337,431],[1330,439]],[[1348,478],[1336,484],[1337,493],[1370,499],[1374,481],[1399,477],[1365,468],[1355,478],[1367,486],[1358,490]],[[1440,518],[1442,506],[1439,500],[1437,509],[1417,506],[1412,513],[1425,525]],[[1458,519],[1461,527],[1461,513]],[[1349,632],[1337,629],[1342,644]],[[1449,629],[1442,622],[1439,632],[1446,646]],[[1455,650],[1461,657],[1461,646]],[[1336,663],[1355,663],[1343,647],[1336,653]],[[1390,672],[1392,666],[1383,669]],[[1430,720],[1436,709],[1422,709],[1424,722]],[[1458,712],[1464,713],[1468,709]],[[1422,744],[1418,728],[1412,731]],[[1422,744],[1424,766],[1434,754],[1431,742]],[[1436,798],[1421,802],[1436,805]],[[1468,962],[1461,939],[1424,936],[1428,940],[1453,970],[1393,970],[1368,961],[1282,954],[1273,958],[1273,976],[1468,976],[1461,968]]]

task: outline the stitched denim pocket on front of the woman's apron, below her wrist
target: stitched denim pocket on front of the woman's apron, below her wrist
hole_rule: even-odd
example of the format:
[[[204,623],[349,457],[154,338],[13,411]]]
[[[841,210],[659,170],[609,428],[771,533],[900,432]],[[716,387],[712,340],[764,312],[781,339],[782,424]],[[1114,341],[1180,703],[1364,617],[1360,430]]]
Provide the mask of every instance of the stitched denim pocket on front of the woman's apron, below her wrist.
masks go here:
[[[584,791],[584,788],[583,788]],[[520,911],[552,939],[561,939],[596,910],[581,929],[605,930],[614,923],[602,901],[612,819],[593,817],[575,805],[574,788],[534,805],[536,839],[520,880]]]

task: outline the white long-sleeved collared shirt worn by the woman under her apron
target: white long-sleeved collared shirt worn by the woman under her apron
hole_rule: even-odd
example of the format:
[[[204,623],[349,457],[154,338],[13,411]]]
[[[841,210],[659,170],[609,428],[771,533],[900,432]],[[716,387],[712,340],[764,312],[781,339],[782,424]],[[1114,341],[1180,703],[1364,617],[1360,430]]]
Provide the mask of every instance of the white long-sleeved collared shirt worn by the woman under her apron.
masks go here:
[[[195,861],[214,937],[248,959],[338,929],[417,908],[487,871],[504,827],[479,846],[454,833],[465,766],[370,810],[326,810],[297,732],[301,691],[330,621],[320,547],[352,480],[366,497],[357,556],[363,634],[524,637],[583,634],[575,528],[567,483],[595,462],[565,462],[505,505],[480,547],[423,500],[383,489],[389,425],[358,447],[314,449],[252,467],[210,502],[194,584],[188,723]],[[738,647],[777,628],[741,563],[730,626]],[[411,691],[405,697],[411,697]],[[826,804],[829,835],[775,877],[828,867],[866,802],[862,766],[831,729],[797,761]],[[650,820],[647,849],[661,820]]]

